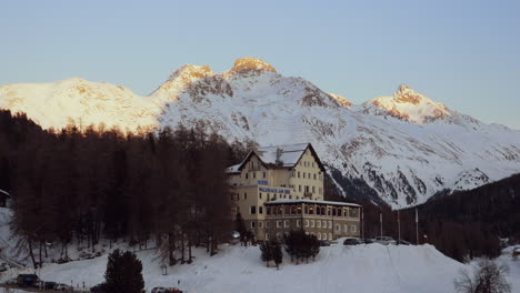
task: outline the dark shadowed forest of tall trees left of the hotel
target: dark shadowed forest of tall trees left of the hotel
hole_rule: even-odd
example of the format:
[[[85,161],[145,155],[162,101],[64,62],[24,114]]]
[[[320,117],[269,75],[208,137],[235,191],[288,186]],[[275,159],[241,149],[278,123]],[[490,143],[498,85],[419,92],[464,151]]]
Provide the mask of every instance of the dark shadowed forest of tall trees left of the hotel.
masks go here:
[[[73,241],[93,251],[100,239],[157,240],[170,264],[192,245],[214,253],[233,229],[224,171],[246,152],[197,128],[43,131],[0,111],[0,189],[13,194],[17,244],[34,266],[44,243],[66,253]]]

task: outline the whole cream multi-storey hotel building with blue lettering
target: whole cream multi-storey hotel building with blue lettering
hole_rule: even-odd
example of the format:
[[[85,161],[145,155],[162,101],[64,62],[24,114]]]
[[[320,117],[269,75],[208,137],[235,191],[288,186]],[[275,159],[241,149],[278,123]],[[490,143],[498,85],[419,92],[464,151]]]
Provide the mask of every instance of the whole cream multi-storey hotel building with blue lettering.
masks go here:
[[[228,174],[232,214],[257,240],[298,229],[320,240],[360,235],[360,205],[323,201],[324,168],[310,143],[259,148]]]

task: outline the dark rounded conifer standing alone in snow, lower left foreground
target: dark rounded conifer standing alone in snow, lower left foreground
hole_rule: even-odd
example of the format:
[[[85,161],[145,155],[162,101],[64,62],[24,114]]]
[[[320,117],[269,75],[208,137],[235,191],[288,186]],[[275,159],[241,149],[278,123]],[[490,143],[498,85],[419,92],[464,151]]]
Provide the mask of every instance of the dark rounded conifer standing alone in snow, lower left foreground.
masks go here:
[[[144,292],[141,261],[130,251],[113,251],[108,257],[104,282],[108,293]]]

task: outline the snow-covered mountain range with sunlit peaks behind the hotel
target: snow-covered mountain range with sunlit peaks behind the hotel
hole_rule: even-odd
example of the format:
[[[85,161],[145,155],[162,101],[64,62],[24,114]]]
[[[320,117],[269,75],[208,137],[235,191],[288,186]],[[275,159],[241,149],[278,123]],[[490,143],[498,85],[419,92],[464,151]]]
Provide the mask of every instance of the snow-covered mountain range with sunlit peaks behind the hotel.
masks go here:
[[[260,145],[311,142],[346,194],[393,206],[520,172],[520,131],[482,123],[407,85],[353,105],[253,58],[223,73],[184,65],[148,97],[80,79],[4,85],[0,108],[27,112],[44,128],[183,123]]]

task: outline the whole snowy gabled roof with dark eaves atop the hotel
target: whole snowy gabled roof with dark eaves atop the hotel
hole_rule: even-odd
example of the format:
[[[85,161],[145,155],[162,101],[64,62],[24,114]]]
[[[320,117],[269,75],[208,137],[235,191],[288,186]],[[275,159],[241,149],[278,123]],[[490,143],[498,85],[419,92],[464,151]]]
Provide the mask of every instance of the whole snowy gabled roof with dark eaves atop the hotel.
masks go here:
[[[260,162],[269,169],[291,169],[300,162],[303,153],[309,149],[318,162],[321,171],[326,171],[320,158],[310,143],[298,143],[277,146],[261,146],[250,151],[246,159],[240,163],[228,168],[228,173],[238,173],[242,170],[246,163],[252,155],[257,155]]]

